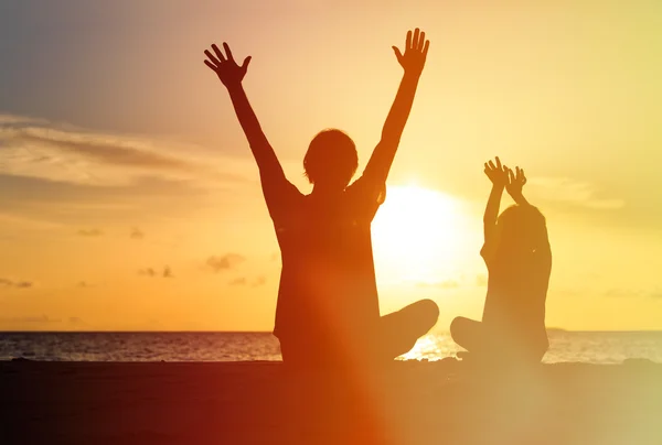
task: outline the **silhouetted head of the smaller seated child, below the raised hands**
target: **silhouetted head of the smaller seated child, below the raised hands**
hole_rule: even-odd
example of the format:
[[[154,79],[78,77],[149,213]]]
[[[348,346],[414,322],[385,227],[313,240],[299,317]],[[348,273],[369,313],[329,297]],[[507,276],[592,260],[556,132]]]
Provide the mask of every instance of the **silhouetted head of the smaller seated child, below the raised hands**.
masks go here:
[[[546,246],[547,227],[543,214],[530,205],[514,205],[499,216],[499,256],[524,257]]]

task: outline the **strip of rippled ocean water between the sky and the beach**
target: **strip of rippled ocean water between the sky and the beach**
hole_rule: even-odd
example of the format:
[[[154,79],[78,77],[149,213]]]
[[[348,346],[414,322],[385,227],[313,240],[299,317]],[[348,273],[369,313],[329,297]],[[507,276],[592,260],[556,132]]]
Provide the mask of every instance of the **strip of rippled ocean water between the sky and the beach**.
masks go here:
[[[543,361],[662,362],[662,332],[551,330]],[[430,334],[401,359],[439,360],[461,350],[448,334]],[[65,361],[280,360],[268,333],[0,333],[0,360]]]

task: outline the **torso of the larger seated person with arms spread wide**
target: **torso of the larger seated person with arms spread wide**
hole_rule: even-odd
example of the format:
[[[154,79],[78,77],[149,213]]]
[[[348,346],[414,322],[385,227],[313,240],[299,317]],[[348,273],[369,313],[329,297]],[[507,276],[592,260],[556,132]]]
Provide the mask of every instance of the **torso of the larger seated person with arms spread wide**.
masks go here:
[[[274,221],[282,259],[276,336],[351,335],[378,319],[372,216],[349,189],[301,195]]]

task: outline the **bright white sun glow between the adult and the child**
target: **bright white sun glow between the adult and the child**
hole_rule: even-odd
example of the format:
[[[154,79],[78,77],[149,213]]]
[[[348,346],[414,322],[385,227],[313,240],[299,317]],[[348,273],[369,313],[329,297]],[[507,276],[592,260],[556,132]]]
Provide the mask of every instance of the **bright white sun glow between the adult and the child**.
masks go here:
[[[375,262],[387,281],[434,284],[448,280],[465,246],[465,216],[457,199],[419,186],[388,187],[373,223]]]

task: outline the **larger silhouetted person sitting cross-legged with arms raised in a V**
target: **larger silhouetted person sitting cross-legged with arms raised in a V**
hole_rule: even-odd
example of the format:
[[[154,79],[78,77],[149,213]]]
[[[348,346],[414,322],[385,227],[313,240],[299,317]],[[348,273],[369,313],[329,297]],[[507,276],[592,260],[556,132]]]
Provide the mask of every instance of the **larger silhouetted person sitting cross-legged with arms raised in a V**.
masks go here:
[[[378,362],[408,351],[437,322],[429,300],[380,316],[371,223],[385,198],[385,182],[412,109],[429,42],[409,31],[404,54],[393,47],[404,76],[382,139],[363,175],[354,142],[328,129],[308,148],[303,169],[312,193],[301,194],[285,176],[242,86],[250,57],[242,65],[223,43],[212,45],[205,64],[227,87],[259,167],[263,193],[280,246],[282,271],[274,335],[285,362],[349,365]],[[349,186],[348,186],[349,185]]]

